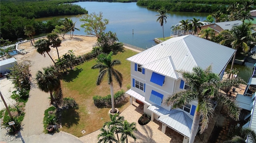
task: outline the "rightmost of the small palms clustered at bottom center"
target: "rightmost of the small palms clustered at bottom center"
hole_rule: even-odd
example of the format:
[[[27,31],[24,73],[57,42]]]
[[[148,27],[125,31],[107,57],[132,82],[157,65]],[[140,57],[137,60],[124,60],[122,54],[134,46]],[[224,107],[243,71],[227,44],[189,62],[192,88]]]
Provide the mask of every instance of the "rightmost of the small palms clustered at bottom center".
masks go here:
[[[126,140],[126,143],[128,143],[128,136],[132,137],[134,141],[136,141],[136,137],[134,135],[134,131],[137,131],[136,123],[132,122],[129,123],[127,120],[124,120],[124,125],[119,128],[121,135],[121,143],[124,143]]]

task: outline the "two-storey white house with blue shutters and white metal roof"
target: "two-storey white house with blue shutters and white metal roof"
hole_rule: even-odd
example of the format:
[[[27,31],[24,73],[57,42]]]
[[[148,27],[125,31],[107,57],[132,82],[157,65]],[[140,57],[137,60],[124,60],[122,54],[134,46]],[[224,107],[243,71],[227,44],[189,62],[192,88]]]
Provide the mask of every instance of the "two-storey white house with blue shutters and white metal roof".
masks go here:
[[[177,73],[178,70],[192,71],[195,66],[203,69],[212,65],[212,71],[222,79],[226,66],[235,50],[193,35],[180,36],[166,40],[152,48],[130,58],[131,89],[130,103],[144,103],[144,112],[151,120],[162,123],[162,132],[166,126],[189,140],[197,101],[187,103],[182,109],[171,109],[162,101],[177,91],[189,88],[189,85]]]

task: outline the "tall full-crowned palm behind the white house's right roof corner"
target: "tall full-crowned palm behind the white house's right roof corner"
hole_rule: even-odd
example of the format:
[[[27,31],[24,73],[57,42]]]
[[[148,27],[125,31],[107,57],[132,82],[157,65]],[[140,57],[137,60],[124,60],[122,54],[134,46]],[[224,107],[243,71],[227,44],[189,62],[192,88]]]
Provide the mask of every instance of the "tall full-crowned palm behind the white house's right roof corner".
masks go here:
[[[225,38],[225,40],[222,40],[220,44],[230,44],[233,49],[236,49],[230,70],[232,70],[234,66],[237,51],[242,49],[244,52],[248,52],[250,50],[248,44],[250,42],[255,42],[255,37],[252,35],[253,29],[254,26],[251,22],[243,22],[241,25],[233,26],[231,30],[224,30],[220,32],[220,35]]]

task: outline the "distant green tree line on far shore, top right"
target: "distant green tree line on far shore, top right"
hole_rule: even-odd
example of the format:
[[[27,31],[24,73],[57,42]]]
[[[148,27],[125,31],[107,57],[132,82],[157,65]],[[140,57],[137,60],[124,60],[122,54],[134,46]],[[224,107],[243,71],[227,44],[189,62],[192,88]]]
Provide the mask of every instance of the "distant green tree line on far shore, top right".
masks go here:
[[[212,13],[221,10],[226,12],[225,4],[232,4],[234,2],[243,3],[238,0],[138,0],[138,6],[147,6],[150,9],[164,9],[173,12],[207,12]],[[255,4],[255,2],[254,2]]]

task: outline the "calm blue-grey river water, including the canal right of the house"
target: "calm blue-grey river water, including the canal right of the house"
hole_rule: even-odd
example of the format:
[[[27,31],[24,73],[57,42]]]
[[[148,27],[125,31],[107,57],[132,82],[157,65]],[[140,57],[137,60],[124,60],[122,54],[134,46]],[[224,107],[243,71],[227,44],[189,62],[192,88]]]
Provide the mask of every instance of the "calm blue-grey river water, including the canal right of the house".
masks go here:
[[[156,43],[154,38],[162,37],[162,27],[159,22],[156,22],[158,12],[156,10],[149,10],[144,6],[137,6],[136,2],[131,3],[118,3],[118,2],[76,2],[83,8],[88,10],[88,13],[99,12],[103,13],[103,18],[109,20],[106,32],[116,32],[120,42],[134,45],[140,48],[150,48]],[[209,15],[208,13],[196,12],[168,12],[167,23],[164,24],[164,36],[170,36],[170,27],[177,24],[181,20],[199,18],[205,20]],[[84,29],[80,27],[82,24],[76,16],[58,16],[60,19],[64,17],[71,18],[76,22],[74,34],[85,35]],[[40,18],[38,20],[46,21],[50,18]],[[134,34],[132,34],[134,30]],[[238,76],[244,81],[248,81],[248,77],[252,74],[254,64],[245,63],[245,66],[234,65],[239,70]],[[230,68],[230,64],[227,68]]]

